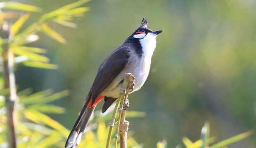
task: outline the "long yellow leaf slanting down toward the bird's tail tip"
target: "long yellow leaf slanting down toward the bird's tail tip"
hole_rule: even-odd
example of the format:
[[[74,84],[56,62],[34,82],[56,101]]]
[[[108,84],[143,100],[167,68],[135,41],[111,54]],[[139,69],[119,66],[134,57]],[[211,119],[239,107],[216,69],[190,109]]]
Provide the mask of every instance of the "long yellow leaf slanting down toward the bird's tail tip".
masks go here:
[[[59,122],[53,120],[49,116],[40,113],[33,109],[26,109],[25,113],[30,113],[30,116],[33,115],[33,120],[43,122],[45,125],[48,125],[49,127],[52,127],[53,129],[56,129],[59,133],[61,133],[63,136],[67,137],[69,135],[69,130],[66,129],[63,125],[59,124]],[[27,116],[26,116],[27,117]],[[28,118],[31,120],[31,118]]]

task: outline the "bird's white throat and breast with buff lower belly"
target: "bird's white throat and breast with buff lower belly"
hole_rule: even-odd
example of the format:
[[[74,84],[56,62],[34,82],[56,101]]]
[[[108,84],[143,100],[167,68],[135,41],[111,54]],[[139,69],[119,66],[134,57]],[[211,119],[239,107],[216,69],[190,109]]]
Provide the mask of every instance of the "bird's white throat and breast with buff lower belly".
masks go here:
[[[117,98],[119,96],[120,82],[126,73],[132,73],[135,77],[135,85],[132,92],[139,90],[144,85],[149,75],[151,57],[156,47],[156,35],[149,34],[140,40],[142,46],[142,55],[138,56],[135,51],[130,52],[130,58],[127,66],[117,75],[117,77],[107,86],[101,95]],[[132,93],[130,92],[130,93]]]

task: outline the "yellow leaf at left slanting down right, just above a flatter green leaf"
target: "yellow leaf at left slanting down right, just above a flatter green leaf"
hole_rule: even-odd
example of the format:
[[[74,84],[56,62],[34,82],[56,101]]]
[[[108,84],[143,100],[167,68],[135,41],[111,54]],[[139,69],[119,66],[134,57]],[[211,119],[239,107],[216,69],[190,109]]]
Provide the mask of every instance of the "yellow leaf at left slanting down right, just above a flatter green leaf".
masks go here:
[[[14,52],[14,54],[19,55],[19,56],[26,56],[28,59],[31,59],[33,61],[40,61],[40,62],[49,62],[50,59],[48,59],[45,56],[42,56],[40,54],[36,54],[33,52],[30,52],[26,49],[22,49],[19,47],[14,47],[12,48],[12,51]]]

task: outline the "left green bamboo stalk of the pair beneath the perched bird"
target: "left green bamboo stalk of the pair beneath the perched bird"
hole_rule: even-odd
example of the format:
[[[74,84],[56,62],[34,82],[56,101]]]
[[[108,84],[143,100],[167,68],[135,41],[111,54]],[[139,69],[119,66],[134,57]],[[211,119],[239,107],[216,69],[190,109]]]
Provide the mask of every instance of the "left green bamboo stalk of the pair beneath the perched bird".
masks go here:
[[[113,127],[115,125],[115,119],[116,119],[116,113],[117,113],[118,107],[120,106],[120,102],[126,98],[126,90],[130,87],[129,85],[130,78],[134,78],[133,75],[131,73],[126,73],[125,78],[123,80],[123,85],[121,86],[121,89],[120,89],[119,97],[116,102],[116,106],[115,106],[111,121],[109,122],[110,127],[109,127],[109,134],[107,138],[106,148],[109,148],[109,145],[110,145],[111,134],[112,134]]]

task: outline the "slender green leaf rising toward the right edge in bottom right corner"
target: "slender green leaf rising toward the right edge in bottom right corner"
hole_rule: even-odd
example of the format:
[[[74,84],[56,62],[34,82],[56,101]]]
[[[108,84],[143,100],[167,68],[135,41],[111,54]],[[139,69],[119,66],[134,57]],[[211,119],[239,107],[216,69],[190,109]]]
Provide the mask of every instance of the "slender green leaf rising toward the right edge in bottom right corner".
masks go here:
[[[245,138],[251,136],[253,133],[254,133],[254,132],[251,130],[251,131],[248,131],[248,132],[244,132],[244,133],[242,133],[242,134],[238,134],[238,135],[233,136],[233,137],[231,137],[231,138],[229,138],[229,139],[226,139],[226,140],[224,140],[224,141],[221,141],[221,142],[219,142],[219,143],[216,143],[216,144],[214,144],[213,146],[211,146],[210,148],[222,148],[222,147],[224,147],[224,146],[228,146],[228,145],[230,145],[231,143],[235,143],[235,142],[237,142],[237,141],[239,141],[239,140],[242,140],[242,139],[245,139]]]

